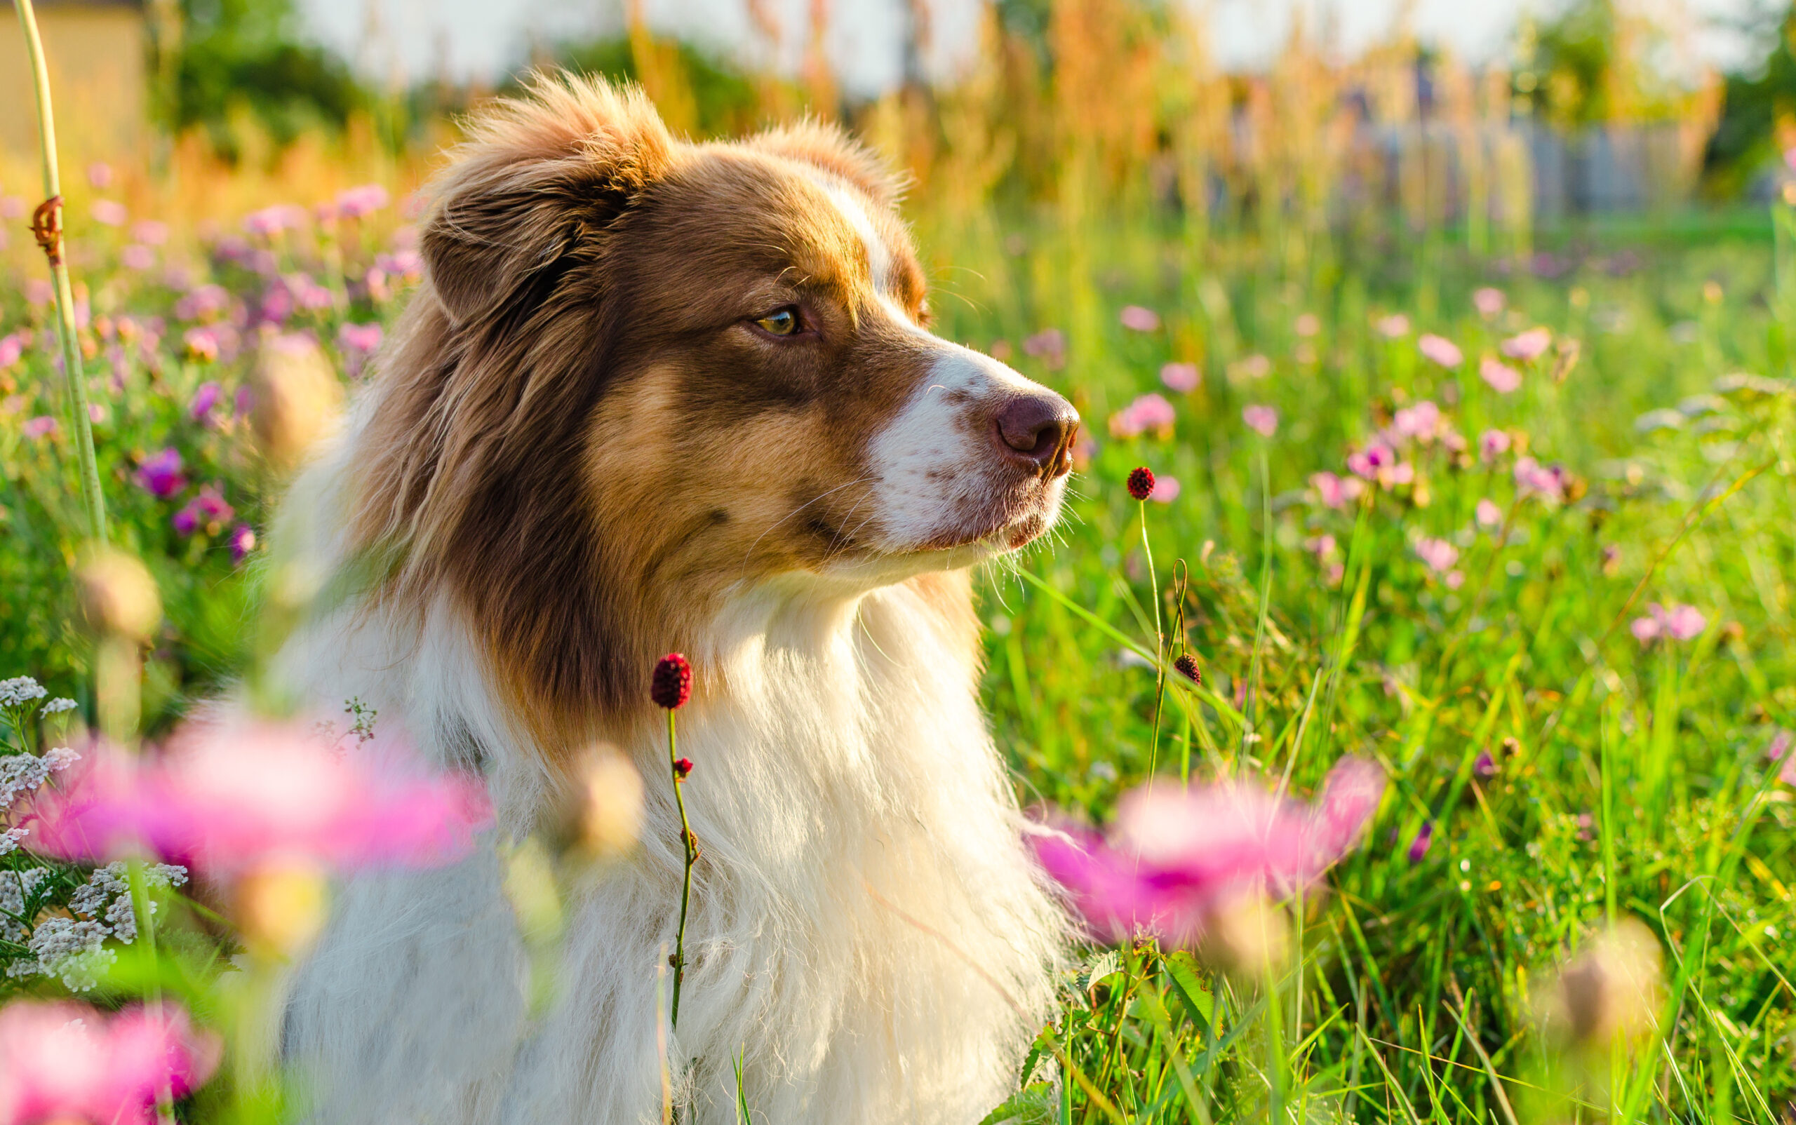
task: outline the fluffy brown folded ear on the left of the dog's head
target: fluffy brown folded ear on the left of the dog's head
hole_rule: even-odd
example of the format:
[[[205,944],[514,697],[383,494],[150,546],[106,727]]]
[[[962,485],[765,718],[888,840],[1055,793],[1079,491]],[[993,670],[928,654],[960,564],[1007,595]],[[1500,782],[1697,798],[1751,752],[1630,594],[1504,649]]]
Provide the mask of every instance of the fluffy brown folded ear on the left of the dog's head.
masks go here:
[[[639,90],[535,75],[469,124],[424,228],[424,262],[456,325],[528,314],[582,246],[666,174],[674,140]]]

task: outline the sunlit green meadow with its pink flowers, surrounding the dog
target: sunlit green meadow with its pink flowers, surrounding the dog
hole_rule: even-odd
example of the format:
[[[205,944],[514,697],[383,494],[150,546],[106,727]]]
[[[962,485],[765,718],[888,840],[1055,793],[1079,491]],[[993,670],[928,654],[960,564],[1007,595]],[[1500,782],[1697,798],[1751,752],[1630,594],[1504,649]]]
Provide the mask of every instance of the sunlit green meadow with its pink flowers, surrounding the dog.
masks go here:
[[[1144,27],[1083,56],[1056,31],[1052,83],[999,45],[963,90],[850,122],[914,176],[938,330],[1085,418],[1052,542],[981,578],[993,730],[1027,807],[1099,829],[1151,777],[1309,798],[1352,755],[1387,788],[1325,879],[1243,926],[1094,917],[988,1120],[1789,1121],[1796,206],[1536,230],[1501,138],[1485,172],[1460,151],[1469,206],[1431,158],[1365,188],[1329,106],[1403,56],[1349,75],[1293,50],[1286,86],[1245,95],[1286,149],[1243,153],[1203,109],[1241,92]],[[652,47],[636,77],[695,113]],[[1101,90],[1117,59],[1148,77]],[[1171,68],[1200,77],[1142,90]],[[251,669],[284,612],[259,542],[280,474],[239,391],[282,339],[350,391],[379,368],[435,160],[350,136],[68,176],[113,542],[163,606],[149,736]],[[0,178],[0,676],[77,707],[22,705],[18,748],[101,721],[34,176]],[[0,854],[41,865],[29,840]],[[224,960],[244,919],[201,883],[138,881],[172,937],[111,940],[83,999],[178,996],[228,1053],[176,1114],[278,1120]],[[74,915],[0,915],[0,958],[34,956],[50,917]]]

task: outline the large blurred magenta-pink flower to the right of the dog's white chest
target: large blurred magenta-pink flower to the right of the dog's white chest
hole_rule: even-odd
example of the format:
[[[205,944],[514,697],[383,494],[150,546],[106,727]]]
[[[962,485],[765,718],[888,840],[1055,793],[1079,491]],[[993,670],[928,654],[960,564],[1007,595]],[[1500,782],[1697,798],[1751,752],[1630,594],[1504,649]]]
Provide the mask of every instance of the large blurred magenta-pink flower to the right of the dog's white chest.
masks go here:
[[[1122,798],[1108,842],[1063,829],[1031,845],[1094,935],[1151,929],[1189,944],[1241,895],[1318,879],[1358,842],[1383,791],[1383,772],[1351,757],[1307,807],[1255,784],[1149,784]]]

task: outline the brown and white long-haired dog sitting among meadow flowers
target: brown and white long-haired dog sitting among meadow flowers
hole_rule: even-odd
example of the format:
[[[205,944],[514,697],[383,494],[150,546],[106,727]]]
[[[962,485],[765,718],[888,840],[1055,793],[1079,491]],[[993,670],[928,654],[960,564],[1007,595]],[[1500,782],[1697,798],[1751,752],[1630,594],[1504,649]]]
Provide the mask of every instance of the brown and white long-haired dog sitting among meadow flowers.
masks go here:
[[[682,858],[648,676],[679,650],[690,1120],[735,1121],[740,1053],[758,1120],[977,1121],[1063,922],[979,711],[968,569],[1054,522],[1072,407],[927,330],[893,181],[826,127],[686,144],[634,92],[539,81],[474,120],[422,248],[275,529],[287,576],[377,580],[278,676],[478,768],[501,838],[596,741],[650,784],[636,852],[568,904],[546,1010],[496,842],[348,883],[284,1021],[314,1116],[661,1120]]]

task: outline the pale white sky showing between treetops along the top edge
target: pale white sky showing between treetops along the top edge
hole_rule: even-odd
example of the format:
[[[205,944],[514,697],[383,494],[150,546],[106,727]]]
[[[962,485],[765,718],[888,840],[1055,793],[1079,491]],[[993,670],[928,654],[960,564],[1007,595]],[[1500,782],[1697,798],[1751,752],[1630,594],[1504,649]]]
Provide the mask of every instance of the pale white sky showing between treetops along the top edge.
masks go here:
[[[447,70],[453,79],[496,81],[523,63],[532,41],[616,31],[627,0],[300,0],[313,31],[357,61],[368,74],[422,79]],[[981,0],[921,0],[932,22],[932,74],[952,72],[977,41]],[[1408,13],[1426,43],[1483,61],[1505,50],[1523,11],[1554,0],[1191,0],[1209,11],[1216,52],[1225,66],[1252,68],[1273,54],[1293,18],[1315,32],[1333,27],[1342,52],[1387,38]],[[1739,36],[1724,23],[1764,0],[1636,0],[1672,25],[1688,29],[1679,41],[1699,56],[1733,63]],[[785,65],[808,34],[810,0],[763,0],[783,32]],[[911,0],[828,0],[826,47],[839,79],[857,93],[873,93],[902,75],[902,34]],[[654,27],[702,41],[722,52],[769,57],[770,45],[749,22],[747,0],[641,0]]]

